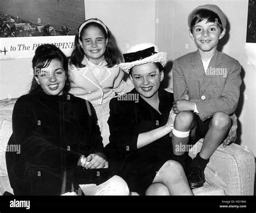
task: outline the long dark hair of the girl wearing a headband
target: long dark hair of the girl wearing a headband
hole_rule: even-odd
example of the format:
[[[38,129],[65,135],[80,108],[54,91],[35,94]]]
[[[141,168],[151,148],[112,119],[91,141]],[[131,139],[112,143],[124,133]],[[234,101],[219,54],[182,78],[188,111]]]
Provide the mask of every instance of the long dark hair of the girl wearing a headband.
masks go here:
[[[98,19],[95,19],[95,20],[98,20]],[[70,57],[70,65],[75,65],[78,68],[85,67],[85,65],[82,64],[82,61],[84,59],[84,51],[81,45],[79,44],[79,39],[82,40],[85,30],[87,28],[90,28],[91,26],[98,28],[100,31],[102,31],[103,35],[105,36],[105,39],[107,39],[106,50],[104,52],[104,59],[106,60],[106,63],[107,63],[106,66],[113,67],[114,65],[122,63],[123,55],[121,51],[118,49],[116,39],[112,35],[109,28],[106,27],[107,29],[107,32],[106,32],[106,30],[103,28],[102,25],[98,24],[97,22],[90,22],[86,24],[81,30],[80,38],[79,38],[79,32],[78,32],[79,28],[78,28],[78,31],[75,36],[75,49],[72,51],[71,57]]]

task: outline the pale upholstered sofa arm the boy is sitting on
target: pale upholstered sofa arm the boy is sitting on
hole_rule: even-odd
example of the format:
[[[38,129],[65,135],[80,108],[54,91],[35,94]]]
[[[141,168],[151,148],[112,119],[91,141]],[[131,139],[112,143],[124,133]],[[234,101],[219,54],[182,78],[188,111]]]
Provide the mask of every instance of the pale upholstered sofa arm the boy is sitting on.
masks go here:
[[[190,149],[189,155],[194,158],[202,145],[203,139]],[[226,148],[220,145],[205,168],[206,181],[224,189],[226,195],[253,195],[254,175],[252,152],[234,143]]]

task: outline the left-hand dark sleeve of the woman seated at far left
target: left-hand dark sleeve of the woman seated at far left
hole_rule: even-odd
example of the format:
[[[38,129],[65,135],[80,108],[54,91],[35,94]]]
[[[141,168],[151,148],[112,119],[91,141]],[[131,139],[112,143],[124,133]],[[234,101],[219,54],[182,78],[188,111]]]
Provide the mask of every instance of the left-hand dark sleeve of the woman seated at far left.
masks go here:
[[[46,110],[42,107],[42,111]],[[80,154],[60,148],[45,140],[33,110],[32,100],[21,97],[12,114],[12,129],[15,143],[21,146],[22,158],[35,165],[50,168],[62,167],[63,156],[68,168],[75,168]]]

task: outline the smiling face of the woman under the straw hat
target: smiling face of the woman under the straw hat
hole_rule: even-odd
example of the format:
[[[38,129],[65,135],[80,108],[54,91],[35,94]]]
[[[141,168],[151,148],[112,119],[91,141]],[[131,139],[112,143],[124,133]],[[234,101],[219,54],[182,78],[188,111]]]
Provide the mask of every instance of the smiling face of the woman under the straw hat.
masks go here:
[[[131,80],[140,96],[144,98],[156,98],[164,72],[159,71],[154,63],[134,66],[130,75]]]

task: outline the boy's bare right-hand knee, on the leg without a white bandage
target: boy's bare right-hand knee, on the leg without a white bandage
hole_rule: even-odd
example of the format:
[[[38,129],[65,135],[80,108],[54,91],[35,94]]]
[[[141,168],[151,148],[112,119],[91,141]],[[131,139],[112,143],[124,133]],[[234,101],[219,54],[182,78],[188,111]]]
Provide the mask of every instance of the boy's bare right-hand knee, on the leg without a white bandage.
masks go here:
[[[217,129],[225,129],[231,126],[230,115],[224,112],[216,112],[213,114],[211,126]]]

